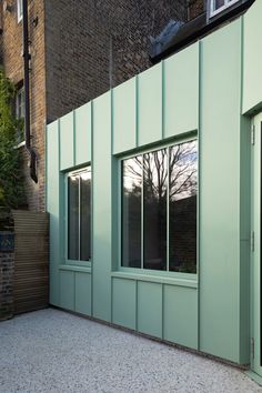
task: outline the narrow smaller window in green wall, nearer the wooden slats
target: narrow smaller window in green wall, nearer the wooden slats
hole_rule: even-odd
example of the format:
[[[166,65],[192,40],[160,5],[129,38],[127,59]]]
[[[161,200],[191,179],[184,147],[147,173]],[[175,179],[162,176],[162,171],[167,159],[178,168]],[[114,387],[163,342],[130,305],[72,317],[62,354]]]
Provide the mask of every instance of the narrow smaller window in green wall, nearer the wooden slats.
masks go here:
[[[68,175],[68,260],[91,260],[91,168]]]

